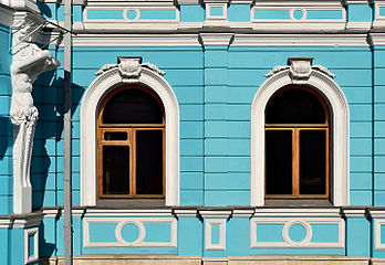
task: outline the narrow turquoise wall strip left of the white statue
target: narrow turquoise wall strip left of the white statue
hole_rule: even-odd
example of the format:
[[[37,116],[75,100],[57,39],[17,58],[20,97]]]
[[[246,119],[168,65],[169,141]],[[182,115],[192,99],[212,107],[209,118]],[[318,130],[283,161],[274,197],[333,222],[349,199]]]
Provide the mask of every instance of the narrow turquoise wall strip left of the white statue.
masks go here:
[[[0,214],[12,213],[12,125],[11,105],[11,46],[10,28],[0,24]]]

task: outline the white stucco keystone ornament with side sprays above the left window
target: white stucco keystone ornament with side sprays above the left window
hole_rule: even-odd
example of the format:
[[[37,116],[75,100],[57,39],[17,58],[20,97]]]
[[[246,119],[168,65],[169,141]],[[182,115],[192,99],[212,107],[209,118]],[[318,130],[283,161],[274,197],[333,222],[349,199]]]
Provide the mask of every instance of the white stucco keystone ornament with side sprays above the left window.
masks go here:
[[[141,76],[142,67],[146,67],[158,75],[166,74],[154,64],[142,63],[141,57],[118,57],[117,64],[105,64],[95,75],[101,75],[112,68],[118,68],[123,83],[136,83]]]

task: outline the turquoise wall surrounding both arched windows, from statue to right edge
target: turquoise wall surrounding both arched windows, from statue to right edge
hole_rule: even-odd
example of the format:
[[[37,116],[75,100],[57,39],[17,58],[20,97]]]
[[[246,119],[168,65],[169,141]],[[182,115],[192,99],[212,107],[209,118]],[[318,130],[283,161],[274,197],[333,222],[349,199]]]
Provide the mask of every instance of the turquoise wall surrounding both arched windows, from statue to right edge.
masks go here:
[[[52,52],[62,60],[62,50]],[[94,73],[106,63],[115,63],[119,55],[143,56],[143,62],[166,71],[165,78],[178,98],[183,205],[249,204],[252,98],[273,66],[285,65],[288,57],[309,56],[314,57],[314,65],[326,66],[336,75],[335,82],[350,105],[351,203],[372,205],[373,198],[376,205],[385,203],[385,198],[381,198],[384,186],[378,177],[385,165],[381,162],[384,155],[381,138],[383,75],[381,65],[372,71],[373,56],[381,56],[381,50],[372,53],[368,47],[228,50],[219,46],[205,47],[205,51],[199,47],[74,47],[72,171],[75,205],[80,203],[82,95],[95,78]],[[34,209],[61,205],[63,201],[62,73],[59,68],[43,74],[33,91],[40,112],[31,168]]]

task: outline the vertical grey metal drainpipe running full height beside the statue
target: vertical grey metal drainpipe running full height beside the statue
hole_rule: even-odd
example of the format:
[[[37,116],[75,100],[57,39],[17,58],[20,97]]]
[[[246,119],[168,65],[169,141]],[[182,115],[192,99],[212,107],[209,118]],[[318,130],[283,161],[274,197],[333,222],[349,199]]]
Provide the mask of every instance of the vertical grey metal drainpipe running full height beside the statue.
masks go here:
[[[64,28],[72,31],[72,0],[64,2]],[[72,265],[71,84],[72,35],[64,34],[64,264]]]

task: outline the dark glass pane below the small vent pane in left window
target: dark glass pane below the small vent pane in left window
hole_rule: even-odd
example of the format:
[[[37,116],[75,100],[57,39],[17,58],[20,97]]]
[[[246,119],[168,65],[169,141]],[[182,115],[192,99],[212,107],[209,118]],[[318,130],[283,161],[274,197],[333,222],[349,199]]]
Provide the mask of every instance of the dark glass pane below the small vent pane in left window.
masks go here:
[[[103,194],[129,193],[129,147],[103,146]]]

